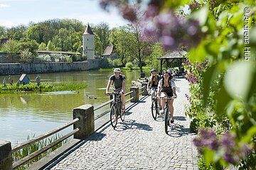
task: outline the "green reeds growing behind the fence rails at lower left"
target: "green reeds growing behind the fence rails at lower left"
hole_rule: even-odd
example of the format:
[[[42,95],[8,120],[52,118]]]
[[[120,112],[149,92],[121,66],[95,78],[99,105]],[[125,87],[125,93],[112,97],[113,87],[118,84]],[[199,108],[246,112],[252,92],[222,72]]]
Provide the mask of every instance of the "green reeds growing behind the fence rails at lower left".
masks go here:
[[[35,135],[33,135],[35,137]],[[23,157],[28,156],[28,154],[31,154],[33,152],[36,152],[38,149],[41,149],[42,147],[46,147],[46,145],[49,145],[51,142],[58,140],[61,136],[59,134],[55,134],[51,137],[48,137],[44,140],[35,142],[31,145],[28,145],[27,147],[23,147],[23,149],[19,149],[18,151],[14,152],[12,154],[12,157],[14,159],[14,162],[18,161],[19,159],[22,159]],[[29,140],[30,137],[28,135],[27,140]],[[25,170],[28,169],[28,166],[31,165],[33,162],[37,162],[39,159],[45,157],[50,152],[53,152],[55,149],[58,149],[62,145],[64,145],[66,142],[68,142],[70,139],[63,140],[63,142],[58,143],[57,145],[51,147],[48,151],[43,152],[42,154],[38,155],[37,157],[31,159],[29,162],[26,162],[26,164],[23,164],[21,166],[18,166],[16,170]]]

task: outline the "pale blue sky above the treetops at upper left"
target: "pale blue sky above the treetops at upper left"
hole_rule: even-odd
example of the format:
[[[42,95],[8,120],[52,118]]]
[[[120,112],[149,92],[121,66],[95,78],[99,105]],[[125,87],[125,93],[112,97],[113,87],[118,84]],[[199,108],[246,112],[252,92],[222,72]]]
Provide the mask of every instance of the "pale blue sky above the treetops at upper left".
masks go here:
[[[104,22],[110,28],[128,23],[116,9],[108,13],[100,8],[99,0],[0,0],[0,26],[27,26],[54,18],[77,19],[85,25]]]

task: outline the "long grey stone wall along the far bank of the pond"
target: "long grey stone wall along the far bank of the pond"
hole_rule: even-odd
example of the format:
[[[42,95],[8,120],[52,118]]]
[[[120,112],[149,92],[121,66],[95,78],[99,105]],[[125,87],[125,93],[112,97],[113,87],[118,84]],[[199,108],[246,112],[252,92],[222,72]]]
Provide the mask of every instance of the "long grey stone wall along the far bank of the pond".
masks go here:
[[[107,67],[106,59],[86,60],[85,62],[47,63],[0,63],[0,75],[39,74],[50,72],[73,72]]]

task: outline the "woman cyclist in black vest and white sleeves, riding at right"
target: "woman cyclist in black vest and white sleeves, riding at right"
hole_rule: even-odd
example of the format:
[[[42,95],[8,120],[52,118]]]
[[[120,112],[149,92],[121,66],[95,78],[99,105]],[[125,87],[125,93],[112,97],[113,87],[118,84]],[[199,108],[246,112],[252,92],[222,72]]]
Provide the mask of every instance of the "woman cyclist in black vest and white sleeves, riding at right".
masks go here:
[[[162,93],[161,93],[162,92]],[[177,97],[176,95],[176,85],[174,81],[171,79],[171,74],[169,72],[164,72],[163,78],[159,81],[158,84],[158,89],[157,89],[157,94],[158,97],[166,97],[166,96],[174,96],[175,98]],[[161,94],[161,95],[160,95]],[[164,106],[165,106],[165,101],[161,101],[161,111],[160,113],[164,113]],[[169,111],[171,115],[171,123],[174,123],[174,99],[171,99],[168,101],[168,106],[169,106]]]

